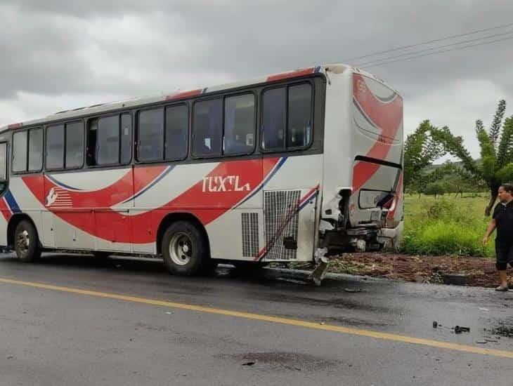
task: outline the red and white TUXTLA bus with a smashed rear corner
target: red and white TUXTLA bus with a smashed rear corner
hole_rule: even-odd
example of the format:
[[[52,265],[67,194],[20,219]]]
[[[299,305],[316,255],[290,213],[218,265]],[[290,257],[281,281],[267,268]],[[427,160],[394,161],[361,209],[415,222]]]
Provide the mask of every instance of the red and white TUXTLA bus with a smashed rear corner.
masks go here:
[[[24,262],[193,275],[379,250],[403,229],[403,99],[335,64],[58,112],[0,129],[0,192],[0,246]]]

